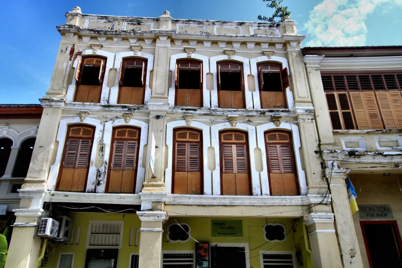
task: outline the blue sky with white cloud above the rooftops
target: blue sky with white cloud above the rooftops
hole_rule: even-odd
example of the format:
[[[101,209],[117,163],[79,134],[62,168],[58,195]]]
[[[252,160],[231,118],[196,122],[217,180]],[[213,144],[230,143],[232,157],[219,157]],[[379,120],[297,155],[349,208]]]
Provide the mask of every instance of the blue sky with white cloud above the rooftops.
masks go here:
[[[80,6],[85,14],[257,21],[261,0],[3,1],[0,103],[39,103],[48,90],[61,36],[56,25]],[[402,0],[284,0],[303,46],[402,45]]]

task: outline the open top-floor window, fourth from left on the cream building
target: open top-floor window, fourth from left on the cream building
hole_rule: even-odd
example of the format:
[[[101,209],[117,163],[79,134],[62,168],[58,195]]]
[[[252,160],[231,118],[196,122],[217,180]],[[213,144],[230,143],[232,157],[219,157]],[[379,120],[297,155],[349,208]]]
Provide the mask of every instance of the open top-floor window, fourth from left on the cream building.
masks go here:
[[[217,65],[219,108],[244,109],[243,64],[219,62]]]

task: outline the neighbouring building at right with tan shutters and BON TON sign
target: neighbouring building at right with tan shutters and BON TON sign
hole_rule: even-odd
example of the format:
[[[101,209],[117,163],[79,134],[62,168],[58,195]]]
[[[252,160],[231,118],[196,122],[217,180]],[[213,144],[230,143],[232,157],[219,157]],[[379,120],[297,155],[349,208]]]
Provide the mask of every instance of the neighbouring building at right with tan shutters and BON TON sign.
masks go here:
[[[342,254],[364,267],[401,267],[402,46],[302,51]],[[335,189],[347,176],[358,196],[353,217],[348,193]]]

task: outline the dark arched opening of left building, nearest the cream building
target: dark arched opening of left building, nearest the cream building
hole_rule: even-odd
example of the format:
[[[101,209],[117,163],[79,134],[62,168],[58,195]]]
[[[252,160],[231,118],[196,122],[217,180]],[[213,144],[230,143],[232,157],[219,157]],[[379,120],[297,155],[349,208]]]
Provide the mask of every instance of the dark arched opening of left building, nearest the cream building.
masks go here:
[[[31,162],[32,157],[33,146],[35,146],[35,141],[36,138],[29,138],[21,144],[12,177],[27,177],[29,163]]]

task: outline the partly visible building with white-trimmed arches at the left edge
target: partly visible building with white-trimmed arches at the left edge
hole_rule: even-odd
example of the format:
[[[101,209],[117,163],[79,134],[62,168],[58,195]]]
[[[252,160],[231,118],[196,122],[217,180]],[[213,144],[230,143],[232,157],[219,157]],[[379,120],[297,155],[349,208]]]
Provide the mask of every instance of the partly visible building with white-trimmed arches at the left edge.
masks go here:
[[[27,176],[40,104],[0,104],[0,227],[20,205],[17,190]]]

